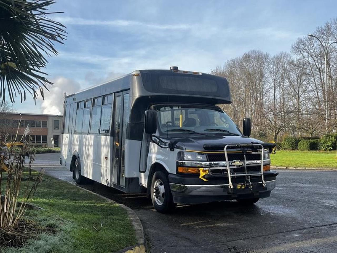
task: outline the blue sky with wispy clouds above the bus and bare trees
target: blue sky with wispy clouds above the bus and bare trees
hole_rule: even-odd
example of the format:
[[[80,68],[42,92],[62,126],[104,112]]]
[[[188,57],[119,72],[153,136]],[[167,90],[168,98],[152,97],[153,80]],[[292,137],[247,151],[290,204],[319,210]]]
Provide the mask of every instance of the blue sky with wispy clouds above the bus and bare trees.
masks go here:
[[[27,97],[13,109],[62,114],[71,94],[136,69],[209,73],[257,49],[290,51],[296,39],[336,17],[336,1],[56,0],[50,18],[67,27],[59,55],[45,72],[54,83],[45,100]]]

